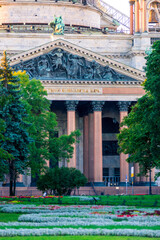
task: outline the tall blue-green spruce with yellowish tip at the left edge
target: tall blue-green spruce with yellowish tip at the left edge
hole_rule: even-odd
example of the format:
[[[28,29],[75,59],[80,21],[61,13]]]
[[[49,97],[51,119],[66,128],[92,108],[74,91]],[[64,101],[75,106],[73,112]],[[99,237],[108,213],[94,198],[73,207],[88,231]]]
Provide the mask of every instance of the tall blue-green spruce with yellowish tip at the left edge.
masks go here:
[[[28,165],[28,144],[30,138],[23,121],[26,110],[21,101],[19,79],[13,76],[6,52],[0,65],[0,119],[4,121],[4,139],[0,142],[5,156],[1,154],[1,164],[10,177],[10,195],[15,195],[16,179]],[[7,156],[7,154],[10,154]],[[11,158],[12,156],[12,158]],[[5,173],[4,172],[4,173]]]

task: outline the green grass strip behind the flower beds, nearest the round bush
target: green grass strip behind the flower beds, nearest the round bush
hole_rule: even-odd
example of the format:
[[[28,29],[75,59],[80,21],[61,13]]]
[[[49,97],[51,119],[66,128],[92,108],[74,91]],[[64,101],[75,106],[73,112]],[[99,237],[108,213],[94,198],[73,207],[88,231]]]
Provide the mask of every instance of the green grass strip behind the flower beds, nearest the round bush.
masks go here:
[[[86,199],[88,198],[88,200]],[[93,196],[63,196],[58,197],[46,197],[46,198],[34,198],[34,197],[14,197],[5,198],[0,197],[0,201],[20,201],[22,204],[61,204],[61,205],[81,205],[81,204],[98,204],[98,205],[123,205],[123,206],[137,206],[137,207],[160,207],[159,195],[140,195],[140,196],[94,196],[97,198],[95,202]]]

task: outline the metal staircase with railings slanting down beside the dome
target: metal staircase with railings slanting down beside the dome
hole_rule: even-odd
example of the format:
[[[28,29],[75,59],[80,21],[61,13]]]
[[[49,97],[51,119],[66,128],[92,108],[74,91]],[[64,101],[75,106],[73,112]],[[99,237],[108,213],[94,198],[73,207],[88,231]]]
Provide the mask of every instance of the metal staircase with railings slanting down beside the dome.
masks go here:
[[[108,3],[103,0],[88,0],[87,3],[100,10],[104,16],[107,15],[113,18],[115,23],[119,23],[119,25],[123,25],[127,29],[130,29],[130,18]]]

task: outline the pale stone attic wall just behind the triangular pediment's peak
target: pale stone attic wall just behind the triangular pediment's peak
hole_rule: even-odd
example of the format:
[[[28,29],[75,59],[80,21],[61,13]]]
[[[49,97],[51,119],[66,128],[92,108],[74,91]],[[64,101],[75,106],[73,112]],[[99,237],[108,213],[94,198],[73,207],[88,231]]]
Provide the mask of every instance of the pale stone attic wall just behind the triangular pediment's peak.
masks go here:
[[[0,8],[1,9],[1,8]],[[154,36],[154,35],[153,35]],[[34,49],[56,39],[64,39],[79,47],[105,55],[130,67],[143,70],[145,50],[150,47],[151,36],[133,36],[125,34],[65,34],[53,36],[48,33],[2,33],[0,32],[0,54],[7,50],[9,54],[18,54]],[[134,43],[134,44],[133,44]]]

